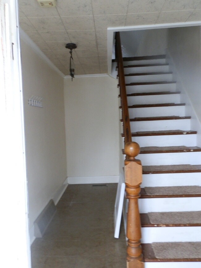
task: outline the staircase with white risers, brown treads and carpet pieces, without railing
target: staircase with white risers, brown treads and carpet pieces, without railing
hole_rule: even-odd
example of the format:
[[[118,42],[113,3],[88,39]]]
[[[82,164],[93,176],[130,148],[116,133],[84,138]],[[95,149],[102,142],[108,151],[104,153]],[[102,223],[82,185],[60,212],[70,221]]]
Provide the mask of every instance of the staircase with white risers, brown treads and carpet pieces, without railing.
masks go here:
[[[123,60],[132,141],[141,147],[137,158],[143,166],[139,210],[145,267],[201,267],[197,132],[191,130],[165,55]]]

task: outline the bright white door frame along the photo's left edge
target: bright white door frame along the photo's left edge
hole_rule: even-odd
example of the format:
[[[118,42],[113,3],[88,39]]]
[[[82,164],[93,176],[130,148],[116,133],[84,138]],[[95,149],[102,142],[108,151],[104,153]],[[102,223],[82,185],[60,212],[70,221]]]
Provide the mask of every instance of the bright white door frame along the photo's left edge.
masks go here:
[[[0,0],[1,258],[29,268],[28,197],[17,0]]]

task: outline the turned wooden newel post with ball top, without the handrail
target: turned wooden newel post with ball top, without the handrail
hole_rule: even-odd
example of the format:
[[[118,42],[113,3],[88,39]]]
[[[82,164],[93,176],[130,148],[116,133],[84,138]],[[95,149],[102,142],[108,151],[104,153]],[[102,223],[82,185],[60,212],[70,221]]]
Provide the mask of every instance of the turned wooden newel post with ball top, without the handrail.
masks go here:
[[[143,268],[143,255],[141,247],[141,222],[138,207],[140,197],[140,184],[142,183],[141,161],[135,159],[140,152],[138,143],[128,142],[124,148],[126,198],[128,198],[127,230],[128,238],[126,267]]]

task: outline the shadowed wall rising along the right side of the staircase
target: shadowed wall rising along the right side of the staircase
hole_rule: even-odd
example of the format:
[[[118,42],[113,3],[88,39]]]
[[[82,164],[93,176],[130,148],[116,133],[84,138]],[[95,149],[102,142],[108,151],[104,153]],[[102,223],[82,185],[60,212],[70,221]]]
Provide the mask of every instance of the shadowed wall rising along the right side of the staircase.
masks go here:
[[[168,50],[173,59],[182,87],[201,122],[201,43],[200,26],[170,28]]]

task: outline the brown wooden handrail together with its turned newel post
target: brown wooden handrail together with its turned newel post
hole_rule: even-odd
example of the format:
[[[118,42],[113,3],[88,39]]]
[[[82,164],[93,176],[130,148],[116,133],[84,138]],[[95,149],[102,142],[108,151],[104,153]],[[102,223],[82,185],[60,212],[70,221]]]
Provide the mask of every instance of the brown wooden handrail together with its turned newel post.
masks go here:
[[[126,198],[128,199],[127,212],[127,229],[126,236],[128,238],[126,268],[143,268],[143,254],[141,247],[141,222],[138,206],[138,198],[140,197],[140,184],[142,183],[142,164],[140,160],[135,159],[140,152],[138,143],[132,142],[130,130],[130,119],[128,112],[128,103],[126,95],[126,83],[124,77],[124,66],[122,58],[120,33],[116,32],[115,36],[115,55],[118,62],[118,76],[122,106],[122,121],[124,139],[125,160],[125,184]]]

